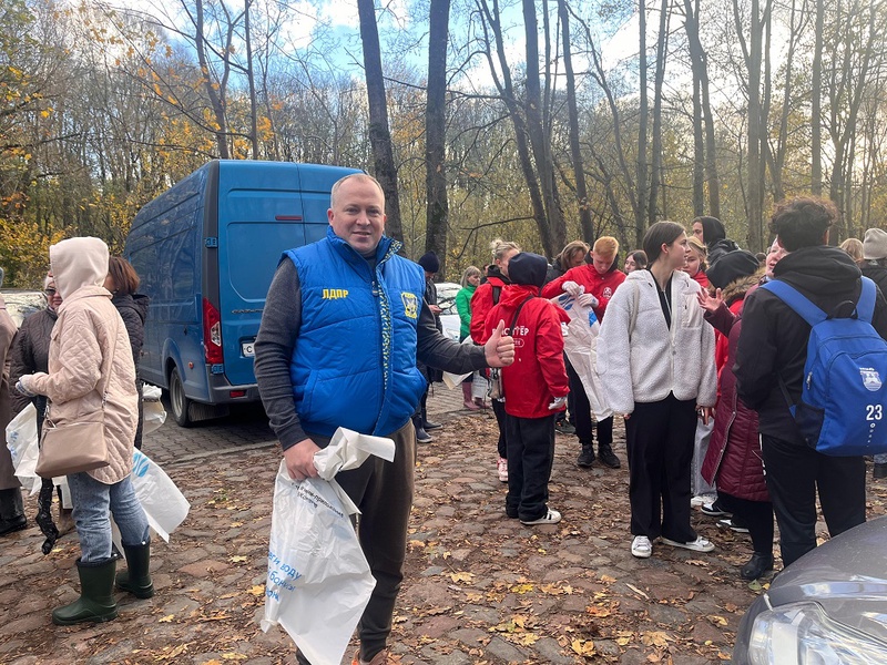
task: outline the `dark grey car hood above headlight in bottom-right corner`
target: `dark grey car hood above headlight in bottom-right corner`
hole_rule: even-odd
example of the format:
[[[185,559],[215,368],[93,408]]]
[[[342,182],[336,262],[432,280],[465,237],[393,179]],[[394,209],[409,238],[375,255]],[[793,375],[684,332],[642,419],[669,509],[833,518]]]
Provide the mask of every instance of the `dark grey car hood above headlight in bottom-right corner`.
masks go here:
[[[835,621],[887,642],[887,516],[816,548],[773,581],[771,606],[816,602]]]

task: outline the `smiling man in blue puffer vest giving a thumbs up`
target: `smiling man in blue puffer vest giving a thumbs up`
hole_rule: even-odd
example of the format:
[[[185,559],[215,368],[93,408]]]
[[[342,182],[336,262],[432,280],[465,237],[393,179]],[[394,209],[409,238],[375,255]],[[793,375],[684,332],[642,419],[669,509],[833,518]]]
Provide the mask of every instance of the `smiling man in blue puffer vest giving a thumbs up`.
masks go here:
[[[337,427],[395,442],[394,462],[370,457],[336,477],[360,509],[358,536],[376,579],[355,663],[384,665],[412,504],[410,417],[426,385],[416,360],[466,374],[510,365],[514,344],[502,335],[503,323],[482,347],[438,331],[422,298],[422,269],[384,235],[385,195],[375,178],[353,174],[333,185],[327,217],[325,239],[286,252],[277,266],[255,371],[293,479],[317,475],[314,454]]]

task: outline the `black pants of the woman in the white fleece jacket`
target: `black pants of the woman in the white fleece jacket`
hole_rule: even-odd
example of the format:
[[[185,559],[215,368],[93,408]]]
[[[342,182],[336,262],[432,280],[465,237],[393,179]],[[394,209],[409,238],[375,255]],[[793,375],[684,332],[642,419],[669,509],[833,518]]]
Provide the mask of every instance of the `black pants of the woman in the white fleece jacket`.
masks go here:
[[[625,421],[629,451],[631,532],[650,540],[660,535],[687,543],[690,472],[696,431],[695,400],[669,393],[657,402],[635,402]]]

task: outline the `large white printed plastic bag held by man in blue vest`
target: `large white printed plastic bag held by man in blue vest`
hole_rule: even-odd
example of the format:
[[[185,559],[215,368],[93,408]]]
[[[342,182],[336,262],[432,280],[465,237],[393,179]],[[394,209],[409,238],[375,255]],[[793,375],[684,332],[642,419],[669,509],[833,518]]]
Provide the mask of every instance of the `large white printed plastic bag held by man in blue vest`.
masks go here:
[[[279,624],[313,665],[339,665],[376,586],[351,524],[359,511],[334,480],[370,454],[390,462],[395,442],[339,428],[314,457],[319,478],[277,470],[261,624]]]

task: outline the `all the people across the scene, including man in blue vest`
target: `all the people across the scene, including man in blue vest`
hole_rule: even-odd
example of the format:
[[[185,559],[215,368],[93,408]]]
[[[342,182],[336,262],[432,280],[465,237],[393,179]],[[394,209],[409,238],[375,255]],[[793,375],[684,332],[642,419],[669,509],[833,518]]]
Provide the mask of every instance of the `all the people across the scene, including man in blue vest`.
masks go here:
[[[659,545],[714,550],[693,529],[699,503],[750,533],[753,554],[738,571],[746,580],[774,567],[774,515],[784,565],[816,546],[817,492],[832,535],[865,521],[863,457],[810,448],[793,417],[812,326],[771,286],[784,283],[833,316],[864,315],[857,310],[874,293],[870,323],[887,339],[887,232],[871,228],[861,242],[832,247],[836,208],[801,197],[776,206],[775,239],[761,256],[728,239],[714,217],[690,228],[657,222],[624,262],[610,236],[591,246],[574,241],[551,263],[497,239],[490,265],[462,275],[456,342],[438,318],[438,258],[400,256],[400,244],[384,235],[384,211],[371,176],[333,186],[327,236],[284,253],[255,344],[259,392],[294,480],[317,477],[314,454],[339,427],[395,442],[394,462],[370,458],[336,477],[359,509],[358,538],[376,580],[355,665],[389,662],[416,442],[440,427],[428,420],[426,400],[441,371],[468,375],[466,409],[486,408],[489,398],[499,429],[496,472],[508,483],[504,515],[522,524],[563,516],[548,491],[558,432],[577,437],[580,468],[621,467],[614,417],[625,423],[635,557]],[[43,427],[103,419],[110,463],[68,477],[58,526],[52,481],[39,497],[49,546],[71,520],[80,539],[80,598],[53,612],[53,622],[69,625],[115,617],[114,586],[136,597],[154,591],[147,521],[130,483],[141,446],[136,368],[146,299],[132,266],[96,238],[53,245],[50,263],[48,307],[18,332],[0,303],[0,424],[29,405]],[[330,287],[347,297],[327,298]],[[595,332],[593,381],[568,358],[564,339],[577,320]],[[27,524],[8,457],[0,451],[0,535]],[[876,457],[874,473],[887,477],[887,458]]]

